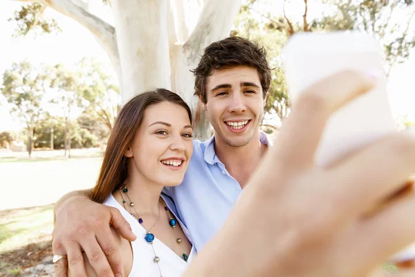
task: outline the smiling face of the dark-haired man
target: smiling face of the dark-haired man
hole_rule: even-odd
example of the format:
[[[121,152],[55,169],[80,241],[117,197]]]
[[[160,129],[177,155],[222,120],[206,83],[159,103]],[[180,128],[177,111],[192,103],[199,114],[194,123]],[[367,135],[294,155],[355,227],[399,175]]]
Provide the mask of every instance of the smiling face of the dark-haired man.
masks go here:
[[[259,132],[264,97],[256,69],[234,66],[216,70],[208,78],[203,105],[216,140],[233,147],[247,145]]]

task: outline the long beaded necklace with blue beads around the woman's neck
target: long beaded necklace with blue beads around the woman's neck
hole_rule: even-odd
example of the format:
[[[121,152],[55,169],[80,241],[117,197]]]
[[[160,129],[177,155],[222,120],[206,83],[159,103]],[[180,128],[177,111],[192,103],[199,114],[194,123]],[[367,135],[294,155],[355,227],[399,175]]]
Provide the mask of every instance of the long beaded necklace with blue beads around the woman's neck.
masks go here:
[[[128,211],[137,221],[138,223],[140,223],[140,225],[145,229],[145,227],[142,225],[142,222],[144,222],[142,220],[142,218],[140,217],[140,215],[138,215],[136,208],[134,208],[135,204],[133,202],[131,202],[131,200],[129,199],[128,196],[128,188],[127,188],[127,184],[123,184],[122,186],[120,186],[119,188],[120,190],[120,195],[122,198],[122,206],[124,206],[125,210]],[[124,193],[124,195],[122,195],[122,193]],[[125,198],[124,198],[125,196]],[[129,203],[127,203],[129,202]],[[129,209],[127,209],[126,204],[129,206]],[[131,208],[134,210],[134,212],[136,213],[136,215],[133,215]],[[172,231],[174,233],[174,235],[176,236],[176,231],[175,231],[175,227],[176,227],[176,220],[172,217],[172,214],[169,211],[169,208],[167,208],[167,206],[164,207],[165,211],[167,212],[167,217],[169,217],[169,225],[172,227]],[[160,219],[160,205],[158,205],[158,218],[156,220],[156,222],[153,224],[153,226],[151,226],[151,228],[149,230],[145,229],[145,237],[144,240],[146,242],[148,242],[151,245],[151,249],[153,249],[153,253],[154,253],[154,262],[156,263],[157,267],[158,267],[158,271],[160,272],[160,277],[163,277],[161,274],[161,270],[160,270],[160,265],[158,265],[158,262],[160,262],[160,257],[157,256],[156,251],[154,250],[154,246],[153,246],[153,241],[154,241],[154,234],[150,233],[151,229],[153,229],[153,227],[156,225],[156,223],[158,222],[158,220]],[[177,238],[176,239],[176,243],[178,245],[180,245],[182,251],[183,251],[183,247],[181,245],[181,238]],[[185,253],[185,251],[183,251],[183,260],[185,260],[185,262],[187,262],[187,255]]]

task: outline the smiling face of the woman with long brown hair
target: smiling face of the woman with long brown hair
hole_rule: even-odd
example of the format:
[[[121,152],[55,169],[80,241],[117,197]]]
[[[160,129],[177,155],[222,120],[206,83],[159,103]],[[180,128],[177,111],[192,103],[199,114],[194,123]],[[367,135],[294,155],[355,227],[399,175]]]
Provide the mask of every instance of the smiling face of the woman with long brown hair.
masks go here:
[[[181,184],[193,154],[192,132],[189,115],[180,105],[160,102],[147,107],[125,153],[131,158],[129,178],[162,186]]]

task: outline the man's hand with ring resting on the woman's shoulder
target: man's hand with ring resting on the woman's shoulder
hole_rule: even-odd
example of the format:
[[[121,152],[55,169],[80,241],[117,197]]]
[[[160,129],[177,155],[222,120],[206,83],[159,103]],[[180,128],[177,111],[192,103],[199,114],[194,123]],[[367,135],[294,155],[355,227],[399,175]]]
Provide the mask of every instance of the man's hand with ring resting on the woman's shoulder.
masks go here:
[[[127,240],[136,240],[128,222],[116,208],[93,202],[83,193],[58,202],[55,208],[53,253],[66,255],[55,263],[57,277],[86,276],[84,254],[98,276],[124,276],[120,251],[110,226]],[[120,275],[118,275],[120,274]]]

